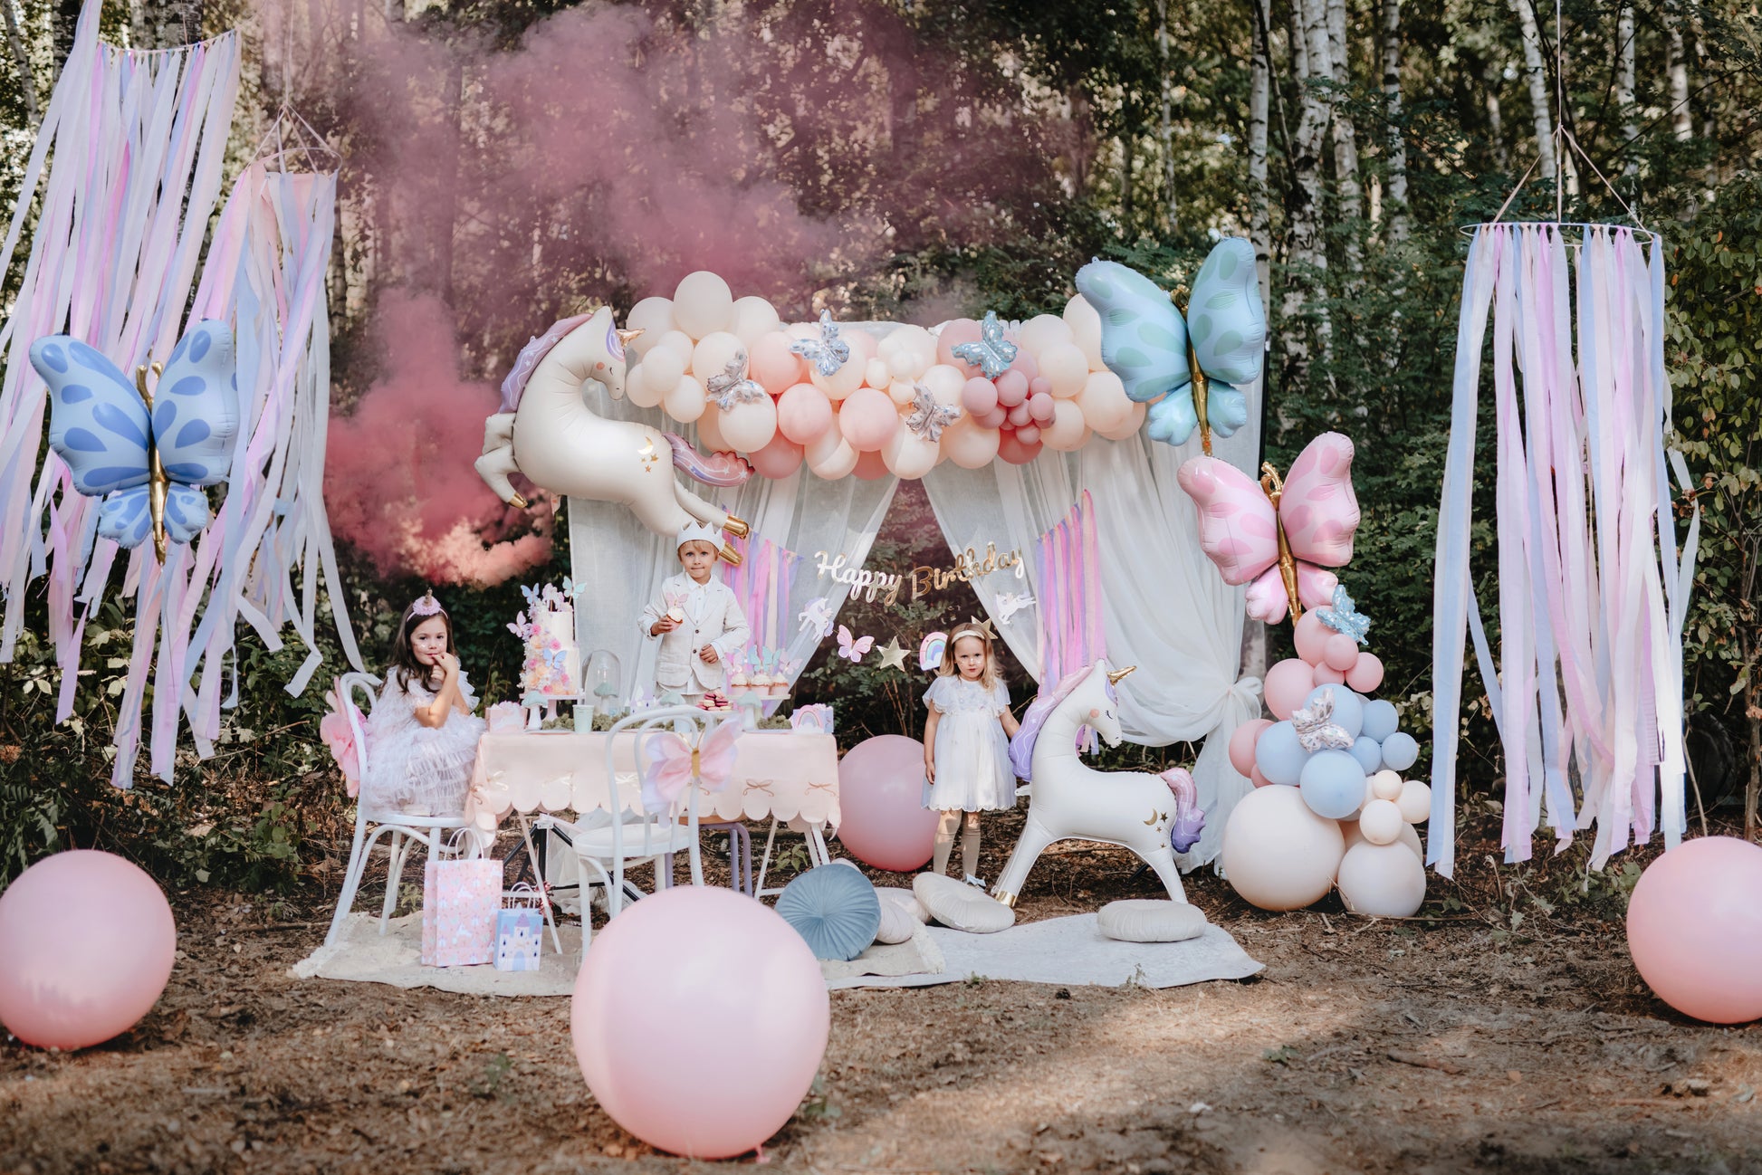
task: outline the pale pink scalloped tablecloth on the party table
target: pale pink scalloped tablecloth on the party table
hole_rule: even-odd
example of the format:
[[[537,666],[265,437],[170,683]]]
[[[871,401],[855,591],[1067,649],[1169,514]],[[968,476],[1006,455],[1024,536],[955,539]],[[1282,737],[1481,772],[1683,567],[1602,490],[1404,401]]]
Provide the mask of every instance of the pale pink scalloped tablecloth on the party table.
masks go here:
[[[641,810],[636,738],[618,735],[618,805]],[[606,787],[606,735],[520,731],[485,735],[472,770],[472,796],[497,817],[520,812],[611,810]],[[803,819],[839,824],[839,743],[832,735],[747,731],[735,777],[717,794],[698,798],[700,819]]]

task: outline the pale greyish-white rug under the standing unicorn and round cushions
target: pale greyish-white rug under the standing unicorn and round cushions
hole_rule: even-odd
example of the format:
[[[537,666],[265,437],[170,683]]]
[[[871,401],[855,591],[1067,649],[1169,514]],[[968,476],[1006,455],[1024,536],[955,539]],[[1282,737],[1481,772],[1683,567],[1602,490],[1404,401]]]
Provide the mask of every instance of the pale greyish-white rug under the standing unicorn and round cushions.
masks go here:
[[[1265,964],[1251,958],[1223,927],[1186,942],[1119,942],[1096,928],[1094,914],[1048,918],[997,934],[930,927],[943,951],[943,974],[853,976],[826,987],[929,987],[969,978],[1062,987],[1184,987],[1207,979],[1246,979]]]

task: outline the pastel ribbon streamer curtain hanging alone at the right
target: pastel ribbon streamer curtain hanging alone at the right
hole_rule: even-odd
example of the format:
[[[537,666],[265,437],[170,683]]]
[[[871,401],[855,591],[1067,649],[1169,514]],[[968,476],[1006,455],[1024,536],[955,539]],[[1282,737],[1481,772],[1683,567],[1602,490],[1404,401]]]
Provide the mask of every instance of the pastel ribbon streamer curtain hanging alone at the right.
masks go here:
[[[1508,861],[1545,819],[1565,847],[1595,826],[1591,865],[1684,828],[1683,624],[1700,516],[1677,555],[1667,451],[1663,254],[1635,233],[1482,225],[1470,248],[1433,627],[1434,756],[1427,860],[1450,876],[1464,629],[1473,629],[1505,752]],[[1470,569],[1475,416],[1492,322],[1499,655]],[[1575,802],[1570,773],[1582,782]]]

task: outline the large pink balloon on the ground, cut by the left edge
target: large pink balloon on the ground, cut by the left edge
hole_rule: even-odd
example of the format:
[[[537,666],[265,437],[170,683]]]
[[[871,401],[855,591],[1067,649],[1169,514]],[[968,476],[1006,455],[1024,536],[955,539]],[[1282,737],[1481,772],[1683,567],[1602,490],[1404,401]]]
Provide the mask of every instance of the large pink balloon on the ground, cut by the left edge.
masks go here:
[[[0,893],[0,1024],[39,1048],[107,1041],[153,1008],[176,953],[171,905],[137,865],[56,853]]]

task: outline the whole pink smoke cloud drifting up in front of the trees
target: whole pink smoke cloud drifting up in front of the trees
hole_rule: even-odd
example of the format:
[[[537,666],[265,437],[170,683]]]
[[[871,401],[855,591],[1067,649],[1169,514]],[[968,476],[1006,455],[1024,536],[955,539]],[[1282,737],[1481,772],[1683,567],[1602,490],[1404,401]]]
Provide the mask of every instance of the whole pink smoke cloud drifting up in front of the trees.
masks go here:
[[[386,569],[486,581],[548,553],[543,530],[509,541],[523,516],[470,462],[488,384],[555,319],[692,270],[837,314],[863,280],[906,291],[893,255],[1031,236],[1061,199],[1020,79],[883,0],[715,5],[701,26],[581,5],[499,39],[439,9],[261,4],[264,92],[344,153],[342,255],[386,291],[368,333],[398,358],[333,428],[328,479],[338,532]]]

